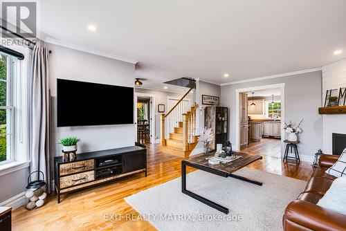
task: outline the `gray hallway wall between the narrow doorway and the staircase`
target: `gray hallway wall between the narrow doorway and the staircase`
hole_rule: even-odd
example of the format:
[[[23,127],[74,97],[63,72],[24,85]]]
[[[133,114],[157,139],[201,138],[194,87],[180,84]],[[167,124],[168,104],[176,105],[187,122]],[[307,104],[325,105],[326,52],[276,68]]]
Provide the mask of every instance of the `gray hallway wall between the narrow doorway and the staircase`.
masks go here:
[[[155,95],[155,105],[154,105],[154,109],[155,109],[155,136],[157,136],[156,139],[161,138],[161,135],[160,135],[160,133],[161,133],[161,131],[160,131],[160,126],[161,126],[160,115],[162,113],[158,113],[158,111],[157,111],[158,104],[165,104],[165,113],[167,113],[167,96],[174,96],[174,97],[181,98],[183,96],[183,94],[170,93],[170,92],[166,92],[166,91],[154,91],[154,90],[140,89],[140,88],[136,88],[135,91],[138,93],[147,93],[147,94]]]

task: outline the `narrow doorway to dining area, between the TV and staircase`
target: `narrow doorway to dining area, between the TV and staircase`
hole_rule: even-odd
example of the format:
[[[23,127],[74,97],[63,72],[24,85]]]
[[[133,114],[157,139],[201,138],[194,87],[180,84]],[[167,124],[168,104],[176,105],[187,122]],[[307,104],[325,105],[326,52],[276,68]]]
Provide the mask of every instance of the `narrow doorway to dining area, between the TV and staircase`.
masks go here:
[[[136,142],[155,143],[154,95],[136,93]]]

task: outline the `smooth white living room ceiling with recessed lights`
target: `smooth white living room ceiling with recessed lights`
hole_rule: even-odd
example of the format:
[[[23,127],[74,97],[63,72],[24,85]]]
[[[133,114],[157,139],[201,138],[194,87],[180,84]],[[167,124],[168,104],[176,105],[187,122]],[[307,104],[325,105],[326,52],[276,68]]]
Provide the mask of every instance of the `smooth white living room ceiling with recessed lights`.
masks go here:
[[[163,89],[178,77],[221,84],[345,59],[345,9],[345,0],[44,0],[39,30],[46,41],[136,60],[143,87]]]

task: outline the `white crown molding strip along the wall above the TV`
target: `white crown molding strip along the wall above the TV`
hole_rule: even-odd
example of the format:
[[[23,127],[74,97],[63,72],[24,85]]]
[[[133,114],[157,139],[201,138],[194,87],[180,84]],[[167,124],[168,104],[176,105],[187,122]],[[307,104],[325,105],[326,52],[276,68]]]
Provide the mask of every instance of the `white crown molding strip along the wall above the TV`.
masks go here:
[[[68,44],[68,43],[65,43],[64,41],[60,41],[60,40],[57,40],[57,39],[52,39],[52,38],[49,38],[49,37],[47,37],[43,41],[48,43],[48,44],[62,46],[62,47],[70,48],[70,49],[73,49],[73,50],[79,50],[79,51],[82,51],[82,52],[85,52],[85,53],[90,53],[90,54],[93,54],[93,55],[99,55],[99,56],[102,56],[102,57],[108,57],[110,59],[116,59],[116,60],[119,60],[119,61],[122,61],[122,62],[128,62],[130,64],[138,63],[138,61],[135,60],[135,59],[130,59],[130,58],[127,58],[127,57],[121,57],[121,56],[113,55],[113,54],[110,54],[110,53],[104,53],[104,52],[99,51],[99,50],[92,50],[92,49],[86,48],[84,46],[78,46],[78,45],[75,45],[75,44]]]

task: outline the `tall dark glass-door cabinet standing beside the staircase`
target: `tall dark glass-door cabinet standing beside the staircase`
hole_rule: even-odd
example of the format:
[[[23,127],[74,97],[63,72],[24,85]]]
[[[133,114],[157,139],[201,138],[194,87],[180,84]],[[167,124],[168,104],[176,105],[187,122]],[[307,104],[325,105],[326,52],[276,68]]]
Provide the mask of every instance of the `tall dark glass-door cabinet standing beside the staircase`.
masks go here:
[[[228,108],[206,107],[204,110],[204,126],[212,128],[215,139],[208,143],[208,148],[215,150],[217,144],[225,147],[228,141]]]

